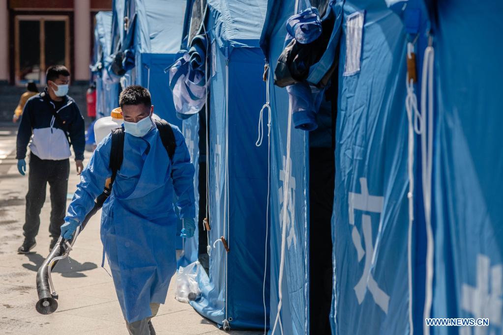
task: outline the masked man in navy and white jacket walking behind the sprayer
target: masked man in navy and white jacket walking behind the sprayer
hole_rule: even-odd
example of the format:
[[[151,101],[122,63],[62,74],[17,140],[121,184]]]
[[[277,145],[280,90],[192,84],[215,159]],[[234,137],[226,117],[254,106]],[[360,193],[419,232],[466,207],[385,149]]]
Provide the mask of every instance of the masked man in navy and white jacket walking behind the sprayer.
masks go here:
[[[47,183],[51,194],[49,233],[52,241],[49,250],[59,238],[66,212],[70,143],[75,153],[77,174],[83,169],[85,125],[77,104],[66,95],[70,72],[62,65],[51,66],[47,69],[46,79],[45,90],[26,102],[18,131],[16,159],[22,175],[26,172],[28,143],[31,152],[23,226],[25,241],[18,249],[20,254],[27,254],[35,247]]]

